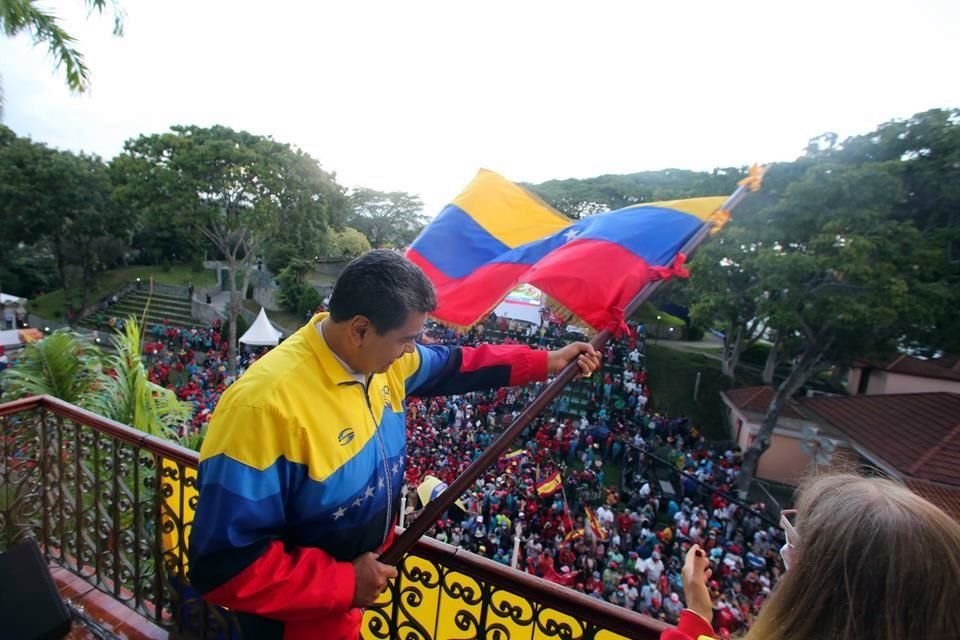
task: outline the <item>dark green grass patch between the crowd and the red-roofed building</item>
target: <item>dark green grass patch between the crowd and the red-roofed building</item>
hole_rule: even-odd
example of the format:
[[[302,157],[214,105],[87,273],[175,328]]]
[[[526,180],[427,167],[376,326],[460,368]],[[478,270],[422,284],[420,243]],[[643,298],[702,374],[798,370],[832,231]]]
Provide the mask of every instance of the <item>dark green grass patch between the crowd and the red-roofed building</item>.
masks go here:
[[[700,353],[678,351],[647,340],[647,371],[654,407],[674,416],[687,416],[708,440],[728,440],[720,392],[729,388],[720,362]],[[697,400],[693,387],[701,373]]]

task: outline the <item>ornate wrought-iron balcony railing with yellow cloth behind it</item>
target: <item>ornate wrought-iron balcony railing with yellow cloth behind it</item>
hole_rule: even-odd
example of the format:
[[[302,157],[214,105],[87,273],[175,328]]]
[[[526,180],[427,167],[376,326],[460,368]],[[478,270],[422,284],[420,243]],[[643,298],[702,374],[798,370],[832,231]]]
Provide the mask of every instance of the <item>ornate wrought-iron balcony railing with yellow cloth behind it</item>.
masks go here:
[[[233,638],[187,581],[197,454],[47,396],[0,404],[0,548],[48,560],[184,638]],[[660,622],[424,539],[367,610],[363,636],[659,637]]]

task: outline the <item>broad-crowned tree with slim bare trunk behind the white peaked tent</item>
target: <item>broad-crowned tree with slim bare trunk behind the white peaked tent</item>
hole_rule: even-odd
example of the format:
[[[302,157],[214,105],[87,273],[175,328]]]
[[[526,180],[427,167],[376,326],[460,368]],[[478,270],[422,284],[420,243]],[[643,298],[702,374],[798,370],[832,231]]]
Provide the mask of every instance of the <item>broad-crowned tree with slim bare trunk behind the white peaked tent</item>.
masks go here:
[[[118,202],[176,217],[226,264],[228,366],[236,375],[237,316],[251,271],[285,227],[322,230],[340,222],[334,177],[290,145],[222,126],[129,140],[112,169]]]

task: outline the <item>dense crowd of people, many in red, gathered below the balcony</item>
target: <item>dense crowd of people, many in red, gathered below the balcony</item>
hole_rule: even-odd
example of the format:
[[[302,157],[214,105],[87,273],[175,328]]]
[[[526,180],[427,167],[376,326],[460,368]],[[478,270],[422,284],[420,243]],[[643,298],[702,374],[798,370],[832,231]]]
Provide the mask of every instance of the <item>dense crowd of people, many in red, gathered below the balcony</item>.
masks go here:
[[[603,370],[555,400],[431,535],[671,623],[684,607],[684,554],[699,544],[715,563],[718,628],[734,633],[750,624],[782,571],[781,532],[762,505],[728,493],[737,453],[711,448],[687,419],[654,410],[645,331],[630,328],[607,346]],[[555,318],[530,326],[492,317],[467,333],[431,324],[424,341],[552,348],[572,337]],[[221,327],[155,325],[148,340],[150,380],[192,403],[185,429],[201,431],[231,382]],[[238,373],[262,352],[241,349]],[[544,386],[410,398],[408,521],[422,506],[417,488],[428,476],[451,483]],[[543,486],[557,474],[559,485]]]

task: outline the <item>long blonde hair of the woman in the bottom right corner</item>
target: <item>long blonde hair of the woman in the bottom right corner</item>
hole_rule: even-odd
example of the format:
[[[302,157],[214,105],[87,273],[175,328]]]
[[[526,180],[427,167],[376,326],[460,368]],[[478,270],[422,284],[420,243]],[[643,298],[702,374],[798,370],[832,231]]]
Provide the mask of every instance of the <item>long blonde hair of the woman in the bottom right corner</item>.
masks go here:
[[[960,638],[960,524],[939,508],[890,480],[819,476],[796,529],[748,640]]]

